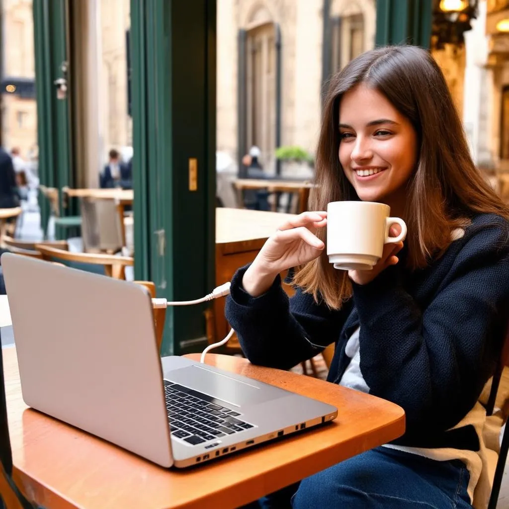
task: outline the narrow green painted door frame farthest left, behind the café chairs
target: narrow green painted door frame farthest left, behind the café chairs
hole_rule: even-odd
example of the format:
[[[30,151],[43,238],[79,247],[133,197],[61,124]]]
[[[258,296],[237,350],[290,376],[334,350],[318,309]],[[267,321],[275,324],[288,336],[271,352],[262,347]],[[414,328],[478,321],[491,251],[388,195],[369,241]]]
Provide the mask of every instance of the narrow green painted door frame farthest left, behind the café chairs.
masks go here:
[[[58,99],[54,83],[56,79],[66,78],[69,66],[67,0],[33,0],[33,10],[39,178],[41,184],[60,190],[63,186],[72,187],[74,183],[69,94],[64,99]],[[49,204],[43,196],[39,196],[39,203],[41,227],[45,232]],[[60,211],[64,211],[61,193]]]

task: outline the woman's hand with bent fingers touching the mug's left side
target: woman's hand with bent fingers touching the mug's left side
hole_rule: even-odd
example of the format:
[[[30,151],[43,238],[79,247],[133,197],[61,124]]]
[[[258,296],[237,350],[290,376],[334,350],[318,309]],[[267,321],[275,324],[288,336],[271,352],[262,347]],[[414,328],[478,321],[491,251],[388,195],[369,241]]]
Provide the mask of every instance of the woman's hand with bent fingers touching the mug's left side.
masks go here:
[[[318,258],[325,244],[312,230],[326,224],[327,212],[304,212],[279,227],[244,273],[244,290],[258,297],[270,288],[281,271]]]

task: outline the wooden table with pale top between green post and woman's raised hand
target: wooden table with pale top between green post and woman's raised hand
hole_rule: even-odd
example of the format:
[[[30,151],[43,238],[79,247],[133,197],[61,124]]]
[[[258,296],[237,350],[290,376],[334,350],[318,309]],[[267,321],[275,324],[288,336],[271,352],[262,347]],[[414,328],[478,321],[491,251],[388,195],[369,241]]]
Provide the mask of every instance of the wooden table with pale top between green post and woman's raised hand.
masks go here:
[[[248,209],[216,209],[216,286],[230,281],[235,271],[252,262],[265,241],[295,214],[280,214]],[[214,300],[214,335],[220,341],[230,326],[224,318],[225,297]],[[210,334],[209,334],[210,336]],[[228,349],[238,350],[236,336]]]

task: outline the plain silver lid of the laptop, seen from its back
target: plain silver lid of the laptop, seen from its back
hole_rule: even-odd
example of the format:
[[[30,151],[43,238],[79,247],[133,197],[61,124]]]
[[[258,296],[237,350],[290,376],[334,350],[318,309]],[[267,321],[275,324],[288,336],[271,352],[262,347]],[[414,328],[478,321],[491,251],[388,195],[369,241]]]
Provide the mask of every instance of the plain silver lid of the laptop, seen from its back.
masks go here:
[[[171,466],[147,290],[12,253],[2,267],[24,402]]]

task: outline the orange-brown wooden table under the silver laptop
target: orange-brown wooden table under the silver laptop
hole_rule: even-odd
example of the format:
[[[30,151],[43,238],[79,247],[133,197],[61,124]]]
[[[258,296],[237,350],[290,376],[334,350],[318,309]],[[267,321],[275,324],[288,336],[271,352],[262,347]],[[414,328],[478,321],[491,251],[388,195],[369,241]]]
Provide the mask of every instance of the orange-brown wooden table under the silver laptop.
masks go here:
[[[16,349],[3,350],[13,476],[48,509],[238,507],[404,433],[403,410],[370,394],[246,359],[209,354],[221,369],[335,405],[329,425],[186,470],[163,469],[103,440],[27,409]],[[191,356],[198,360],[197,354]]]

